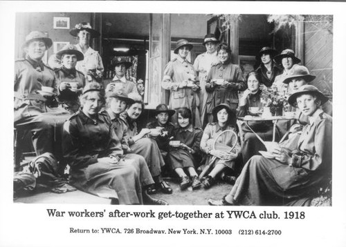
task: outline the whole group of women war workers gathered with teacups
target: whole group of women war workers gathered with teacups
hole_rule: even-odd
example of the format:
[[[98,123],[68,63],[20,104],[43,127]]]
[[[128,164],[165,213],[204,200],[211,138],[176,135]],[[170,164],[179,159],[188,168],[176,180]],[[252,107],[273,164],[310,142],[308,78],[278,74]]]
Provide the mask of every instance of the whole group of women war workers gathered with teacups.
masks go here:
[[[54,153],[52,133],[64,124],[62,155],[76,188],[120,204],[167,205],[151,196],[158,190],[173,192],[163,179],[164,167],[179,177],[181,190],[190,186],[208,189],[219,177],[229,181],[227,175],[236,175],[236,161],[242,154],[245,166],[237,181],[233,177],[233,190],[224,199],[209,199],[208,203],[268,205],[307,195],[323,180],[321,171],[329,170],[331,145],[320,141],[331,139],[331,117],[320,110],[327,99],[313,86],[293,90],[291,84],[296,85],[298,79],[308,83],[313,76],[302,72],[304,66],[292,69],[300,61],[292,50],[275,56],[275,50],[262,48],[257,56],[260,66],[244,80],[242,69],[230,62],[230,47],[213,34],[206,35],[207,51],[193,65],[188,61],[192,44],[177,41],[177,56],[167,63],[162,81],[162,87],[170,90],[169,106],[158,105],[155,121],[139,130],[136,121],[144,103],[136,84],[125,78],[131,63],[115,58],[116,77],[102,83],[102,59],[89,47],[98,32],[89,23],[80,23],[70,33],[80,43],[51,57],[55,70],[42,63],[51,39],[41,32],[26,38],[26,58],[16,62],[15,125],[24,124],[30,130],[39,155]],[[275,146],[268,150],[269,157],[253,156],[262,147],[256,146],[257,139],[246,126],[241,127],[246,135],[240,146],[236,119],[256,115],[251,108],[263,107],[261,97],[273,85],[287,93],[292,88],[289,103],[298,106],[308,125],[301,136],[295,135],[295,144],[287,140],[290,146]],[[54,95],[59,110],[47,106],[47,98]],[[42,124],[47,112],[59,116],[53,118],[54,129]],[[250,126],[264,139],[275,131],[266,122]],[[45,137],[44,146],[38,144]],[[216,144],[226,149],[215,148]],[[206,166],[199,168],[201,164]]]

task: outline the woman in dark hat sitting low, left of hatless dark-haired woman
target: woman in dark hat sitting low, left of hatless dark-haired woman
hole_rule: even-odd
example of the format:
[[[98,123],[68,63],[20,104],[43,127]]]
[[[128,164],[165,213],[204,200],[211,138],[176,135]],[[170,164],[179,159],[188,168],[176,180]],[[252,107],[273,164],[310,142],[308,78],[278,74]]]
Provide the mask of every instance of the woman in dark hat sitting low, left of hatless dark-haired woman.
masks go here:
[[[170,122],[170,117],[172,117],[174,113],[175,110],[169,110],[164,103],[161,103],[156,106],[156,121],[147,124],[147,128],[158,128],[161,130],[161,134],[154,138],[161,152],[168,152],[170,148],[169,143],[174,130],[174,124]]]

